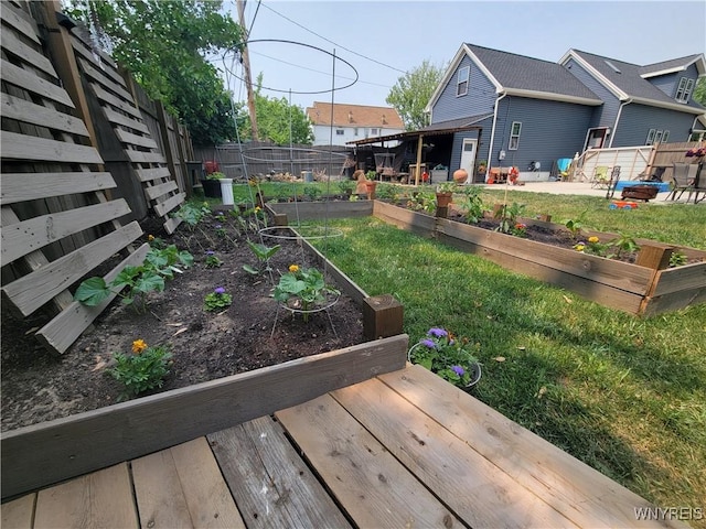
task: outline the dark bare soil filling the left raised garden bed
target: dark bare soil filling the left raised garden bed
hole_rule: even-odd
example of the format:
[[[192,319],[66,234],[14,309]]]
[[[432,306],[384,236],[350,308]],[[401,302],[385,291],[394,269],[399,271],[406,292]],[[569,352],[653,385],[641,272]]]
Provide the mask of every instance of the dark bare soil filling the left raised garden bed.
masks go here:
[[[113,354],[130,352],[136,339],[149,346],[167,345],[173,355],[162,388],[145,395],[364,342],[362,311],[344,294],[328,313],[313,313],[307,323],[300,313],[280,307],[272,299],[274,284],[290,264],[313,266],[296,240],[264,239],[267,246],[279,244],[281,249],[270,260],[271,276],[253,276],[243,269],[243,264],[258,264],[246,244],[248,238],[259,241],[252,220],[232,215],[208,217],[193,230],[182,224],[173,236],[160,233],[161,225],[154,220],[142,227],[140,242],[153,235],[195,258],[190,269],[167,281],[163,292],[150,293],[145,313],[136,313],[117,299],[58,355],[45,350],[33,336],[49,321],[46,316],[17,319],[3,303],[2,431],[116,403],[121,385],[110,376]],[[223,266],[206,268],[208,250],[215,251]],[[115,256],[116,262],[120,258]],[[207,312],[204,296],[217,287],[233,295],[233,304]]]

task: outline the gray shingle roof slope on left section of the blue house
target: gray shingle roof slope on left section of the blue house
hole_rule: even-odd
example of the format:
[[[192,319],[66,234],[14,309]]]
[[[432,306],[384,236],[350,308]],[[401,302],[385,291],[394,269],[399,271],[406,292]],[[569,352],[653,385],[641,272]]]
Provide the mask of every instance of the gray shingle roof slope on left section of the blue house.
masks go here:
[[[581,97],[600,101],[596,94],[557,63],[474,44],[467,43],[466,45],[504,88]]]

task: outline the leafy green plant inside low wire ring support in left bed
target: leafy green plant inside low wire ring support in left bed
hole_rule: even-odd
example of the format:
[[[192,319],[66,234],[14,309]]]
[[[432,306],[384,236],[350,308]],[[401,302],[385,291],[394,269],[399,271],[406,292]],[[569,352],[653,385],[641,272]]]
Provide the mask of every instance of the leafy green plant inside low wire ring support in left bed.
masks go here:
[[[309,311],[318,303],[323,303],[328,293],[340,294],[336,289],[325,284],[323,273],[318,269],[291,264],[289,272],[279,278],[274,298],[280,303],[287,303],[290,309],[303,312],[303,320],[308,322]]]

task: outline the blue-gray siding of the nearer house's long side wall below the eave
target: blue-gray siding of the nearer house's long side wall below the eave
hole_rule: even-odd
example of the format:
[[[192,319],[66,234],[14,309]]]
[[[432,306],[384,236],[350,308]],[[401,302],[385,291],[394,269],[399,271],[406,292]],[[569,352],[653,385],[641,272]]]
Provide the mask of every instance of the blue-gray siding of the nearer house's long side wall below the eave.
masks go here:
[[[542,171],[549,171],[557,159],[573,158],[575,152],[581,151],[592,115],[593,107],[585,105],[505,97],[498,109],[493,152],[488,158],[489,164],[515,165],[525,171],[530,162],[538,161],[542,163]],[[513,121],[522,122],[516,151],[507,148]],[[503,161],[498,159],[501,150],[505,151]]]

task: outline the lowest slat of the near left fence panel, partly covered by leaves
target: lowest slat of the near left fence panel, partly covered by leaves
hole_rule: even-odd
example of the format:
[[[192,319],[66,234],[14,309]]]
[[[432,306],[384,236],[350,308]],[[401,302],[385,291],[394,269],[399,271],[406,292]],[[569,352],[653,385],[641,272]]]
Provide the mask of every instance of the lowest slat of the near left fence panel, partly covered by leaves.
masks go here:
[[[149,249],[150,245],[143,244],[103,278],[109,283],[125,267],[141,264]],[[66,309],[38,331],[36,338],[47,349],[55,350],[58,354],[65,353],[81,336],[81,333],[110,304],[115,296],[116,294],[109,295],[96,306],[86,306],[77,301],[72,301]]]

